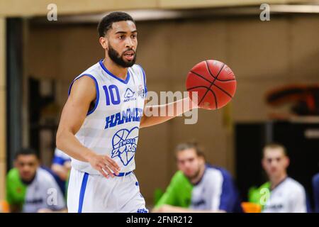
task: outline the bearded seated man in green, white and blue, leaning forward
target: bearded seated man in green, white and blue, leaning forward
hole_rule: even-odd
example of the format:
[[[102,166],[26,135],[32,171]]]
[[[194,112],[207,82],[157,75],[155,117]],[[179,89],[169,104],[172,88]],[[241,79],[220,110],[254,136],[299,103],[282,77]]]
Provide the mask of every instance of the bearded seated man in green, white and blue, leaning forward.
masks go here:
[[[242,212],[232,177],[207,165],[196,143],[178,145],[176,159],[179,171],[153,212]]]

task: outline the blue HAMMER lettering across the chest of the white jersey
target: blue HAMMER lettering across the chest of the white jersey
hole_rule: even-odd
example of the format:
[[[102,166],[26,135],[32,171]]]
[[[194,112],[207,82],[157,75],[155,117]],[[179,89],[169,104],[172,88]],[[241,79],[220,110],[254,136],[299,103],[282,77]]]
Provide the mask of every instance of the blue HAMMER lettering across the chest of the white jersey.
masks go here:
[[[140,121],[142,117],[143,110],[140,108],[126,109],[125,111],[112,114],[111,116],[106,117],[106,128],[112,128],[123,123],[128,123],[131,121]]]

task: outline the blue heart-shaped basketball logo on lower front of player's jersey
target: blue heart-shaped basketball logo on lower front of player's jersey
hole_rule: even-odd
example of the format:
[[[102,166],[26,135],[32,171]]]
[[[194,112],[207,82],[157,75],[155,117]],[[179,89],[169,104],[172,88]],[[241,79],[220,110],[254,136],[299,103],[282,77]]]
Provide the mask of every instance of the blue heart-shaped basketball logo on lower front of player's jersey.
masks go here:
[[[138,146],[138,127],[117,131],[113,135],[112,146],[111,157],[119,157],[123,165],[128,165],[133,160]]]

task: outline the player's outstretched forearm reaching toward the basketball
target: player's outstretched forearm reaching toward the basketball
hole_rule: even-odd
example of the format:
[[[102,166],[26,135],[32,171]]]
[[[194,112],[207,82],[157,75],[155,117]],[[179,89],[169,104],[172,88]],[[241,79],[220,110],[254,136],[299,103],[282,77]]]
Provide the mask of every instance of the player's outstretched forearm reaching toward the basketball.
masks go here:
[[[194,105],[192,106],[188,97],[179,99],[178,101],[173,101],[169,104],[145,106],[140,128],[155,126],[159,123],[169,121],[176,116],[184,114],[192,108],[194,108]]]

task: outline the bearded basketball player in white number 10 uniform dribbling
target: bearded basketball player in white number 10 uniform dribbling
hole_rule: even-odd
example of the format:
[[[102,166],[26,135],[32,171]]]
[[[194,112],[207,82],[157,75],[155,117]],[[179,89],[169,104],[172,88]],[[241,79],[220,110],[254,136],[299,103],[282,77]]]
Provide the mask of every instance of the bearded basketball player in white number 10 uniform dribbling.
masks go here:
[[[177,105],[192,102],[187,98],[145,107],[145,72],[135,65],[135,21],[127,13],[109,13],[100,21],[98,31],[105,57],[70,85],[57,131],[57,148],[72,157],[68,210],[147,212],[133,173],[139,129],[189,111],[177,109]],[[143,114],[152,110],[166,113],[171,107],[174,116]]]

